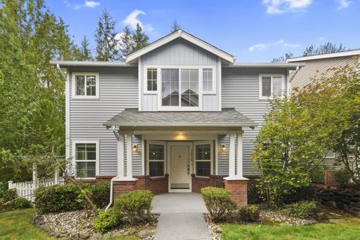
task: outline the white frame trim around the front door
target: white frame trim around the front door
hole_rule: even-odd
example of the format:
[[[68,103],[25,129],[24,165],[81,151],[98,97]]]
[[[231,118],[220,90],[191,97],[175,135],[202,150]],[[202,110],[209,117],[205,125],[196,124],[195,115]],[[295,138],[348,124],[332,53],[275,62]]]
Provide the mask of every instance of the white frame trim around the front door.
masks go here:
[[[188,146],[189,147],[189,189],[185,189],[185,190],[172,190],[171,189],[171,146]],[[169,179],[168,179],[168,192],[192,192],[192,177],[191,174],[194,172],[194,160],[192,158],[192,142],[168,142],[167,144],[167,160],[168,160],[168,174],[169,174]]]

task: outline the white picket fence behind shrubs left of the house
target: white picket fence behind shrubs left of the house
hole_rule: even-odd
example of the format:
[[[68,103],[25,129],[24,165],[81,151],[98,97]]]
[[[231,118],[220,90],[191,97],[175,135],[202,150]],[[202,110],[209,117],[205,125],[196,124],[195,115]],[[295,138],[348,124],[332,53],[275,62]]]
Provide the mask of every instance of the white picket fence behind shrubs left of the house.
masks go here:
[[[54,178],[49,178],[39,181],[26,181],[21,183],[14,183],[13,181],[8,181],[9,189],[15,188],[18,196],[22,196],[28,201],[34,201],[34,192],[38,187],[50,187],[53,185],[60,184],[60,181],[56,181]]]

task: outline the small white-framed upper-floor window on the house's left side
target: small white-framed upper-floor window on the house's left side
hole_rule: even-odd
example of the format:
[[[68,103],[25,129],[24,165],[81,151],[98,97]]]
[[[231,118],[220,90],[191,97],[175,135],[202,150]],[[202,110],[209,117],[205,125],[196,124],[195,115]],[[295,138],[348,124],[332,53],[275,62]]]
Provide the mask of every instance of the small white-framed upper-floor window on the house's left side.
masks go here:
[[[73,98],[99,98],[99,74],[73,73]]]

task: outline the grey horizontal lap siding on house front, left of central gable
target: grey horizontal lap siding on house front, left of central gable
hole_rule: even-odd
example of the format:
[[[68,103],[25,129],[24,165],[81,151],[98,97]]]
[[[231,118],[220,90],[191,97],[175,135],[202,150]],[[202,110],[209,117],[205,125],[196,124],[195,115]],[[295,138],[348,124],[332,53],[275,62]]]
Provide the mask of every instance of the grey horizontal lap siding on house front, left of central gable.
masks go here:
[[[73,99],[72,73],[99,73],[98,99]],[[70,156],[73,140],[99,140],[100,175],[117,175],[117,142],[111,129],[102,126],[125,108],[138,107],[137,67],[72,67],[70,69]],[[141,174],[141,137],[133,136],[133,174]]]

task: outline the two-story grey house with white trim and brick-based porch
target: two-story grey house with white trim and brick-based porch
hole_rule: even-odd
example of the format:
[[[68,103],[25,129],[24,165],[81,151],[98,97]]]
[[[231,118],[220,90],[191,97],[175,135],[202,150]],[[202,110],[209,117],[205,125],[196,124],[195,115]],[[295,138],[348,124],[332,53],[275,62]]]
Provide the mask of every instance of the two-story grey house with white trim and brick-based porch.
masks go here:
[[[289,93],[289,71],[304,66],[237,64],[182,30],[125,62],[51,63],[69,73],[66,157],[75,178],[112,179],[114,196],[224,186],[243,204],[268,98]]]

